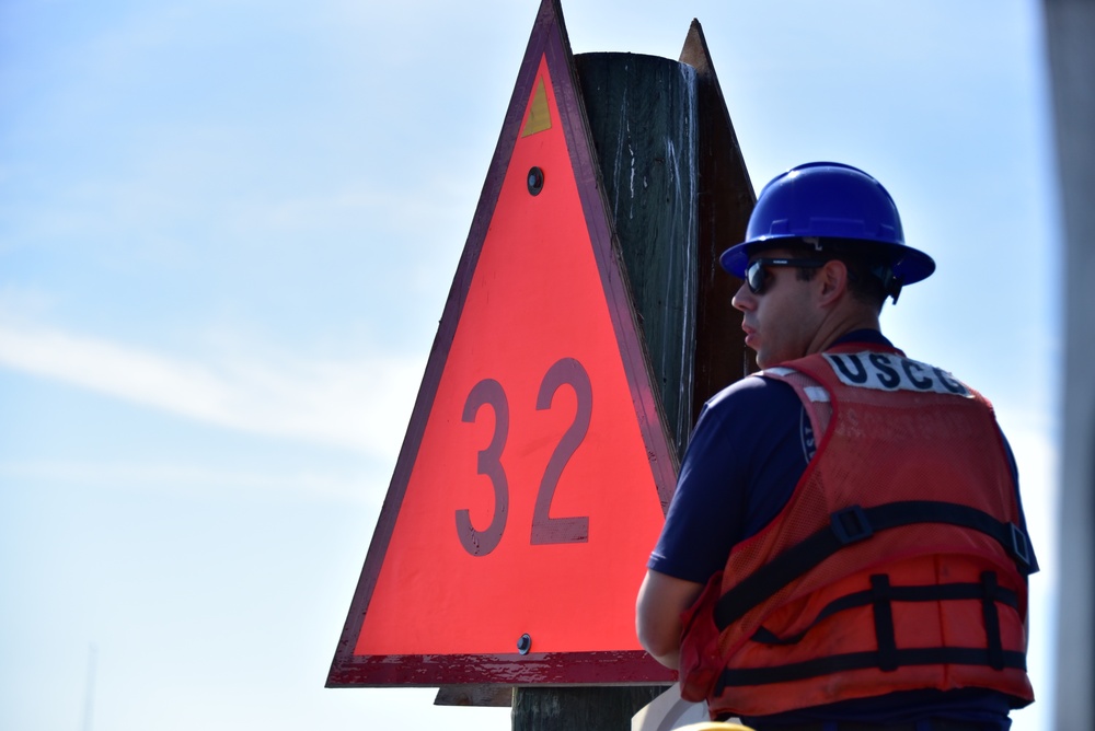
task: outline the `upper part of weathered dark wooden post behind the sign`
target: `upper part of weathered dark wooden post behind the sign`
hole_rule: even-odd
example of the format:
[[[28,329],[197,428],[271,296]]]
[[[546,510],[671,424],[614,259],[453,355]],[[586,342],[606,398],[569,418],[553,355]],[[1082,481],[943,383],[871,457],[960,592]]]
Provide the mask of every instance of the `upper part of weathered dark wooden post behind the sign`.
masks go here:
[[[679,455],[692,429],[695,352],[695,69],[636,54],[583,54],[574,60]]]

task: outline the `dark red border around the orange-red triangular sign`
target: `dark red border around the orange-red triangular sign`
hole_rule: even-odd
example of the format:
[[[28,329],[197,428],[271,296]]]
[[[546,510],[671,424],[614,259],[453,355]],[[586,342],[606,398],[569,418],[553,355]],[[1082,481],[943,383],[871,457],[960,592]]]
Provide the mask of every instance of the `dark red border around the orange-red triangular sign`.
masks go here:
[[[407,433],[332,661],[326,681],[327,687],[387,685],[428,687],[463,684],[661,685],[676,680],[673,671],[658,664],[642,650],[520,654],[515,647],[512,653],[506,654],[354,654],[357,636],[391,542],[457,325],[523,124],[526,106],[538,78],[541,59],[546,59],[553,79],[560,123],[570,155],[572,171],[577,183],[590,245],[600,271],[662,513],[668,509],[672,497],[677,480],[678,455],[665,427],[658,392],[653,386],[646,344],[635,315],[620,244],[608,212],[610,208],[601,182],[585,106],[578,92],[577,73],[563,23],[562,9],[558,0],[542,0],[498,144],[480,195],[471,231],[460,256],[437,336],[430,349]]]

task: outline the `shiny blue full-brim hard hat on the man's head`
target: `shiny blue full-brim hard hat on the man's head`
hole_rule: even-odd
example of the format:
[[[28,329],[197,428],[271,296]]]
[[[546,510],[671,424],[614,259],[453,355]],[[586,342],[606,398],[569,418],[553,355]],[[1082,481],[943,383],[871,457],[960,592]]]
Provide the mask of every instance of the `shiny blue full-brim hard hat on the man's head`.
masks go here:
[[[761,190],[749,217],[746,240],[723,252],[719,263],[745,277],[758,251],[817,239],[853,243],[858,251],[888,259],[903,285],[926,279],[935,262],[904,245],[897,206],[881,183],[839,162],[810,162],[777,175]]]

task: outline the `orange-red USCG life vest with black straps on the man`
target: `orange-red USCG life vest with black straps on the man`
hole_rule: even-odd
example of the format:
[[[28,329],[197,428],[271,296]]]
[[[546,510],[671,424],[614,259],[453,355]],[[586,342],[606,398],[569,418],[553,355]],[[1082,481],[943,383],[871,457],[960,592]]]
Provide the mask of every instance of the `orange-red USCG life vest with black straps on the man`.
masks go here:
[[[1029,704],[1037,567],[991,405],[879,346],[764,375],[822,437],[787,504],[684,614],[682,695],[713,718],[918,688]]]

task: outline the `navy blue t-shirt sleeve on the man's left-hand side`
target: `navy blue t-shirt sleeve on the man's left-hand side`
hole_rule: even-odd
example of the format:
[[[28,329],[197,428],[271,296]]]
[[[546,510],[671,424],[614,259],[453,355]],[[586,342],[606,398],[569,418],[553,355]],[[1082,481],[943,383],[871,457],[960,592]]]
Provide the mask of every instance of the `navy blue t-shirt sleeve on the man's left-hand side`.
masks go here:
[[[696,421],[647,567],[705,583],[786,504],[811,455],[809,421],[785,383],[748,378],[717,394]]]

